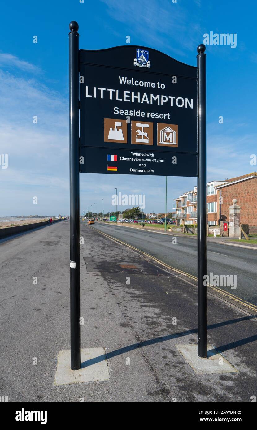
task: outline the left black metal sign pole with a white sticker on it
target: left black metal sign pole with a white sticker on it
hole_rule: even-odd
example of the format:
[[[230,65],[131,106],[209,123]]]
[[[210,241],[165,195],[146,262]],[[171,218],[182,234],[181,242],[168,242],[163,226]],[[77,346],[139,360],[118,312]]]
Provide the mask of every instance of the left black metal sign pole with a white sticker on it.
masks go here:
[[[77,33],[77,22],[71,21],[69,28],[71,370],[77,370],[81,367],[79,244],[79,34]]]

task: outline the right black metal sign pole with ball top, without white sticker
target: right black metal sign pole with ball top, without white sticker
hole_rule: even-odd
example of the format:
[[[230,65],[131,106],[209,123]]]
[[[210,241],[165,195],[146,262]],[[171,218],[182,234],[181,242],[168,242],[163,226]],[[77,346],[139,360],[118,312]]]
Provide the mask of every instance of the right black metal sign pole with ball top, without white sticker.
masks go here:
[[[197,181],[197,270],[198,270],[198,356],[207,357],[207,274],[206,250],[206,55],[205,45],[197,48],[198,67],[198,181]]]

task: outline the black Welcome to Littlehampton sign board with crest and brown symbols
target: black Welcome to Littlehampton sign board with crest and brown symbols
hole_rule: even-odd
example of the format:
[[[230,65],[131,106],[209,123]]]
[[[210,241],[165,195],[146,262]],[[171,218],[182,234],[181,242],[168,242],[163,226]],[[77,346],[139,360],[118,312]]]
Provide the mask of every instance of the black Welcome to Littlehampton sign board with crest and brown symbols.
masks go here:
[[[80,50],[80,172],[197,176],[197,113],[196,67],[142,46]]]

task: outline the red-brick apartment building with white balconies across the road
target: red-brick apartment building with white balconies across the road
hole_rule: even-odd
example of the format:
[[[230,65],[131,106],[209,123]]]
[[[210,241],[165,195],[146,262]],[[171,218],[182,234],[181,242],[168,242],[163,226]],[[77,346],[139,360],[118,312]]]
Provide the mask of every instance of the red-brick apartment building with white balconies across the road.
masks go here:
[[[229,221],[229,206],[232,205],[232,199],[237,199],[237,204],[241,206],[241,223],[257,227],[257,172],[225,181],[207,182],[209,225],[218,225],[220,220]],[[197,187],[174,200],[176,224],[196,224]]]

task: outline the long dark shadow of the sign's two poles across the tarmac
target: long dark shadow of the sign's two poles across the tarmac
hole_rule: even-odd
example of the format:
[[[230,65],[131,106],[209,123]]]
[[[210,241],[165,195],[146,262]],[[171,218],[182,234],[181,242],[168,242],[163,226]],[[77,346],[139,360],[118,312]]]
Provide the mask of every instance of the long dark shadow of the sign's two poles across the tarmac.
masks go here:
[[[211,326],[207,326],[207,329],[217,329],[218,327],[228,326],[230,324],[234,324],[235,322],[247,321],[248,319],[252,319],[252,318],[256,318],[256,317],[257,317],[257,315],[250,315],[250,316],[245,316],[242,318],[230,319],[229,321],[217,322],[216,324],[212,324]],[[98,357],[95,357],[93,359],[84,361],[81,363],[81,369],[88,367],[88,366],[91,366],[93,364],[99,363],[103,360],[110,359],[112,357],[116,357],[118,355],[121,355],[121,354],[127,353],[129,351],[138,349],[138,348],[146,347],[146,346],[153,345],[153,344],[158,344],[159,342],[169,341],[171,339],[176,339],[176,338],[180,338],[180,337],[187,336],[187,335],[192,335],[194,333],[197,333],[197,329],[187,330],[186,332],[174,333],[173,335],[166,335],[166,336],[161,336],[161,337],[155,338],[155,339],[149,339],[148,341],[138,342],[136,344],[132,344],[132,345],[129,345],[127,347],[123,347],[123,348],[120,348],[118,350],[111,351],[111,352],[108,352],[108,353],[103,354],[103,355],[99,355]],[[222,346],[217,347],[215,349],[207,351],[207,357],[214,356],[217,353],[228,351],[230,349],[249,344],[249,343],[254,342],[256,340],[257,340],[257,335],[254,335],[254,336],[249,336],[248,338],[241,339],[239,341],[230,342],[229,344],[225,344],[225,345],[222,345]]]

